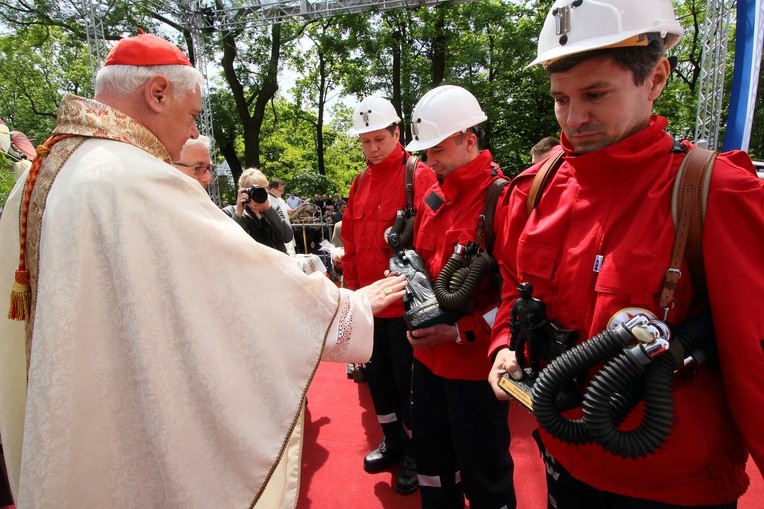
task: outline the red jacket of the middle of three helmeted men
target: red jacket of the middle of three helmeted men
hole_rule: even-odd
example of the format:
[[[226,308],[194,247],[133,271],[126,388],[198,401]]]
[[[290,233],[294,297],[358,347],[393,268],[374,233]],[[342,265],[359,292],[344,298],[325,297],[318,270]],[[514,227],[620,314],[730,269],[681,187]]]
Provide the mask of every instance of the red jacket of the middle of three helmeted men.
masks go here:
[[[425,203],[417,214],[414,250],[425,260],[433,283],[456,245],[476,240],[478,216],[483,213],[486,191],[491,182],[500,177],[503,177],[501,170],[493,163],[490,152],[484,150],[425,194]],[[508,187],[502,192],[506,193]],[[506,213],[502,201],[499,200],[495,217]],[[475,311],[457,322],[462,344],[454,341],[434,348],[414,349],[414,356],[438,376],[459,380],[488,377],[491,364],[486,358],[486,349],[491,326],[483,315],[497,307],[498,288],[486,277],[473,300]]]

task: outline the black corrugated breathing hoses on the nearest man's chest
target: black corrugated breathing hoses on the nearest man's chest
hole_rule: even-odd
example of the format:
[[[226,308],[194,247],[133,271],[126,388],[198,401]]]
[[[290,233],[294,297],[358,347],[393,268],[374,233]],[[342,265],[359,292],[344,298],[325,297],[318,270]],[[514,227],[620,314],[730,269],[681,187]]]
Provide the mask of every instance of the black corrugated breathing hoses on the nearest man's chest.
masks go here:
[[[687,320],[674,331],[665,322],[636,315],[547,365],[533,385],[533,410],[541,427],[559,440],[597,443],[624,458],[646,457],[670,434],[675,371],[694,368],[715,355],[709,313]],[[584,393],[583,417],[563,416],[556,404],[563,387],[605,361]],[[644,401],[641,422],[620,430],[640,401]]]

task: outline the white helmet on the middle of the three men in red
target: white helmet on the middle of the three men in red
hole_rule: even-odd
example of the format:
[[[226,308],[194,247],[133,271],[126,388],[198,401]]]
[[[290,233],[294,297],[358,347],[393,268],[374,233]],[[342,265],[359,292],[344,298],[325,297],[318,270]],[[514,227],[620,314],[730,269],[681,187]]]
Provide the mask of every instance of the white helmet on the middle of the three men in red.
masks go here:
[[[454,85],[435,87],[414,107],[412,140],[406,150],[432,148],[452,134],[464,132],[487,119],[475,96],[467,90]]]

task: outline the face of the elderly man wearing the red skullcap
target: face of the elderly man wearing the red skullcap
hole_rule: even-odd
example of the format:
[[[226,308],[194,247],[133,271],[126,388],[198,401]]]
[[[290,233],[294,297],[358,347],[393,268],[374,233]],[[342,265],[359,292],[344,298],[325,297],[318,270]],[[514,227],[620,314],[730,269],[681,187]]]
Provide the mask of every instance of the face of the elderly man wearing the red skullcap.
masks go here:
[[[198,138],[196,119],[202,113],[202,94],[172,90],[168,104],[162,112],[160,133],[157,138],[170,153],[173,161],[180,160],[180,153],[189,138]]]

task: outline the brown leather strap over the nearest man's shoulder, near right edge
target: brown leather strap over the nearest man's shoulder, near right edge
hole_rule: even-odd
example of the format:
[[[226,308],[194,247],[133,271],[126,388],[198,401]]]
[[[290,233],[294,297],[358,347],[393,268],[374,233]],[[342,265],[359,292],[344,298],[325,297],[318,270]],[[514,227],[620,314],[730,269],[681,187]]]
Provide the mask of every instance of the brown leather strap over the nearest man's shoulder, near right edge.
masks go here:
[[[676,236],[671,252],[671,263],[663,279],[660,299],[661,307],[666,310],[674,301],[674,290],[682,276],[680,267],[682,258],[685,257],[686,247],[689,247],[686,258],[693,284],[699,293],[706,295],[702,233],[708,187],[715,160],[714,151],[695,147],[687,152],[674,180],[671,215],[674,217]]]

